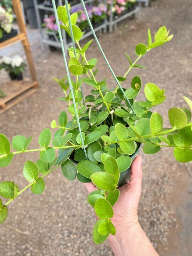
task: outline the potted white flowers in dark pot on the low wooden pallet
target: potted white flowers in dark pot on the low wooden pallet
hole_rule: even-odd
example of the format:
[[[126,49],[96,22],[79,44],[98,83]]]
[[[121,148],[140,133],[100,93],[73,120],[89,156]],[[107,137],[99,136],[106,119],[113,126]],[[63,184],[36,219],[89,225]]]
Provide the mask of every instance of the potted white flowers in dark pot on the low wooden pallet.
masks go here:
[[[26,64],[23,62],[23,59],[16,55],[14,58],[9,58],[4,56],[0,60],[0,70],[5,69],[11,80],[23,80],[23,71],[25,69]]]

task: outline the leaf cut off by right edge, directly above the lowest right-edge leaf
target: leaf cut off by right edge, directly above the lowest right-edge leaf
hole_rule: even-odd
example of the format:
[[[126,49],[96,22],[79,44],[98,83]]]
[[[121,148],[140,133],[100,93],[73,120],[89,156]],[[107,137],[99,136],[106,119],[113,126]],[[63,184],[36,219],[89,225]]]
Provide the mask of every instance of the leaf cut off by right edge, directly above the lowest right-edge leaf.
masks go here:
[[[191,146],[192,145],[192,130],[187,126],[173,135],[173,140],[176,146]]]

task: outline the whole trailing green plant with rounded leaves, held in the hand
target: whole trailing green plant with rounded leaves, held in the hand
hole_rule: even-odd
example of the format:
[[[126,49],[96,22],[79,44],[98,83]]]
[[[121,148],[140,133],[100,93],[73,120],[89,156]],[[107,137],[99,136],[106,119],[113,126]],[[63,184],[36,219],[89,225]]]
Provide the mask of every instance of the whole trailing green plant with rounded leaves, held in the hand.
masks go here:
[[[87,202],[94,207],[99,218],[93,228],[93,239],[100,244],[110,233],[116,234],[112,218],[113,206],[119,197],[118,187],[128,181],[129,167],[141,145],[146,154],[155,154],[162,147],[171,147],[177,161],[192,160],[192,101],[184,97],[190,110],[186,108],[187,104],[184,108],[167,110],[170,121],[167,128],[161,115],[153,111],[155,106],[166,100],[165,90],[148,82],[144,86],[146,100],[137,101],[142,86],[140,77],[135,76],[130,85],[127,83],[128,73],[133,68],[142,68],[137,64],[142,56],[171,40],[172,35],[169,36],[166,27],[156,32],[154,41],[148,30],[148,44],[140,43],[135,47],[134,61],[126,54],[128,62],[124,64],[127,66],[124,75],[114,75],[108,64],[118,85],[109,90],[107,79],[100,79],[97,59],[86,57],[93,40],[83,45],[79,43],[83,33],[75,25],[78,14],[69,16],[69,9],[70,6],[66,5],[59,6],[55,11],[57,24],[59,20],[62,22],[58,26],[61,42],[60,29],[64,29],[76,44],[76,47],[74,44],[68,49],[67,77],[55,79],[63,89],[64,97],[60,100],[68,102],[69,113],[62,111],[57,120],[52,121],[53,137],[49,128],[39,134],[36,149],[28,149],[32,137],[16,135],[10,143],[4,134],[0,134],[1,167],[8,166],[15,154],[40,153],[36,162],[27,161],[23,167],[23,176],[28,182],[25,188],[20,190],[16,181],[0,182],[0,196],[3,198],[0,199],[0,223],[6,220],[10,202],[15,201],[27,188],[31,188],[35,194],[43,193],[44,177],[60,167],[66,179],[73,181],[77,178],[80,182],[92,182],[97,187],[89,194]],[[65,55],[64,61],[66,64]],[[91,87],[91,94],[85,98],[82,94],[84,84]]]

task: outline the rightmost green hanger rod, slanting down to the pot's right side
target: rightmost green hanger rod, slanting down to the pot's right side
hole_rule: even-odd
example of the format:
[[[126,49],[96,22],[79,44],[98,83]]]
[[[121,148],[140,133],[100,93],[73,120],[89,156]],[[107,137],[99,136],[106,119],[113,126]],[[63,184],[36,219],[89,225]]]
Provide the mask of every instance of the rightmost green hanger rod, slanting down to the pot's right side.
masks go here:
[[[98,41],[98,39],[97,39],[97,36],[96,36],[96,34],[95,34],[95,31],[94,31],[94,29],[93,29],[93,27],[92,27],[92,25],[91,25],[91,21],[90,21],[89,15],[88,15],[88,13],[87,13],[87,10],[86,10],[84,1],[81,0],[81,3],[82,3],[82,6],[83,6],[83,9],[84,9],[84,11],[85,11],[85,15],[86,15],[86,17],[87,17],[87,21],[88,21],[89,26],[90,26],[90,28],[91,28],[92,34],[93,34],[93,36],[94,36],[94,38],[95,38],[95,41],[96,41],[96,43],[97,43],[97,45],[98,45],[98,47],[99,47],[99,49],[100,49],[100,51],[101,51],[101,53],[102,53],[102,55],[103,55],[103,58],[105,59],[107,65],[108,65],[108,68],[110,69],[110,71],[111,71],[111,73],[112,73],[112,75],[113,75],[113,77],[114,77],[114,80],[117,82],[117,84],[118,84],[118,86],[119,86],[119,89],[122,91],[122,94],[123,94],[124,98],[127,100],[127,102],[128,102],[128,104],[129,104],[131,110],[133,111],[133,114],[136,116],[136,114],[135,114],[135,112],[134,112],[134,110],[133,110],[133,107],[132,107],[130,101],[128,100],[126,94],[124,93],[123,88],[121,87],[121,85],[120,85],[120,83],[119,83],[119,81],[118,81],[116,75],[114,74],[114,72],[113,72],[113,70],[112,70],[112,68],[111,68],[111,66],[110,66],[110,64],[109,64],[109,62],[108,62],[108,60],[107,60],[107,58],[106,58],[106,56],[105,56],[105,53],[103,52],[103,49],[101,48],[101,45],[100,45],[100,43],[99,43],[99,41]]]

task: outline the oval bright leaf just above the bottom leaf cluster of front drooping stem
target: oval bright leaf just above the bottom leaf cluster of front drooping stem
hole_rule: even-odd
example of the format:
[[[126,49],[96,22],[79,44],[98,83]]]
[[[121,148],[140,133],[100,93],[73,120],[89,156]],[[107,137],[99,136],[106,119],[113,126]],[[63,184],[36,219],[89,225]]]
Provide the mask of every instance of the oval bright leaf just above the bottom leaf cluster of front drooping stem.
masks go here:
[[[112,218],[113,209],[111,204],[105,198],[99,198],[95,202],[95,213],[101,219]]]

